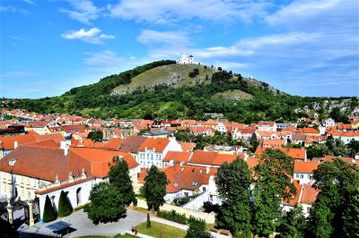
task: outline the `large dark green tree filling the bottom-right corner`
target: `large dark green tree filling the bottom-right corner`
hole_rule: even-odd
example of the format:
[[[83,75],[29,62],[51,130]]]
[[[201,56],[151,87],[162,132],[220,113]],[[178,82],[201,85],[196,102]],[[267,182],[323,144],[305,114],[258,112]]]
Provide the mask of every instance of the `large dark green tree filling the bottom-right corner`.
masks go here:
[[[316,237],[353,237],[359,234],[359,168],[340,158],[314,171],[320,191],[311,209],[309,233]]]

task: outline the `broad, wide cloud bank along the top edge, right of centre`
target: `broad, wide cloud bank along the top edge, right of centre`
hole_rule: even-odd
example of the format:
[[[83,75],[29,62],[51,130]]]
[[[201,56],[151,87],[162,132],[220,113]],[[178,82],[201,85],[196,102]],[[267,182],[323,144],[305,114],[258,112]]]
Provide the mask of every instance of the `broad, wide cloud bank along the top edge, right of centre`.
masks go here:
[[[183,19],[205,21],[251,21],[266,13],[270,4],[263,0],[122,0],[108,5],[110,15],[125,20],[168,23]]]

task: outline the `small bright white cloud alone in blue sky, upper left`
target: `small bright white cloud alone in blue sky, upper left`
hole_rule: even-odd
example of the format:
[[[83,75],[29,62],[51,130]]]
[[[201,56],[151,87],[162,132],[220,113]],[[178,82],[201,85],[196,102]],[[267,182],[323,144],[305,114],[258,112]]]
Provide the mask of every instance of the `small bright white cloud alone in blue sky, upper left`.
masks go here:
[[[92,28],[90,30],[70,30],[62,34],[62,38],[66,39],[80,39],[86,43],[102,44],[102,39],[115,38],[113,35],[100,34],[101,30],[98,28]]]

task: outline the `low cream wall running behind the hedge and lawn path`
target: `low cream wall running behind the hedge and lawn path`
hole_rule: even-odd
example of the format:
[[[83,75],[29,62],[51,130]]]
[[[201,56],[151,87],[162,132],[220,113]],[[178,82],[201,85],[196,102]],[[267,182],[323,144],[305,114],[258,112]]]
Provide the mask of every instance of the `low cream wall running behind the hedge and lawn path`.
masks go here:
[[[147,209],[147,204],[145,202],[145,200],[141,200],[137,198],[137,207],[138,208],[145,208]],[[202,211],[197,211],[197,210],[192,210],[192,209],[188,209],[188,208],[180,208],[177,206],[173,206],[171,204],[163,204],[163,206],[160,208],[162,210],[165,211],[171,211],[171,210],[175,210],[176,212],[180,213],[180,214],[185,214],[186,217],[196,217],[196,218],[200,218],[206,221],[207,224],[215,224],[215,213],[206,213],[206,212],[202,212]]]

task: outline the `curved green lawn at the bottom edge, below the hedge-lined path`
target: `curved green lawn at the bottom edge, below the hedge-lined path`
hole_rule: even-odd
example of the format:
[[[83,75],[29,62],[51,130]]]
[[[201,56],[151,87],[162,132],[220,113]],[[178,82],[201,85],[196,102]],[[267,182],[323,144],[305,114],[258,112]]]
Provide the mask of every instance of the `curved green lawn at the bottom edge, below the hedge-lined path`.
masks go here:
[[[185,237],[187,231],[181,230],[179,228],[173,227],[171,225],[164,225],[158,222],[151,222],[151,228],[146,227],[146,222],[141,223],[140,225],[136,225],[138,232],[140,234],[147,234],[153,237],[159,237],[160,233],[162,233],[163,238],[180,238]]]

